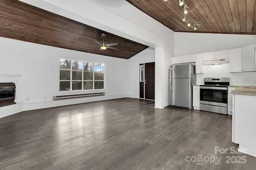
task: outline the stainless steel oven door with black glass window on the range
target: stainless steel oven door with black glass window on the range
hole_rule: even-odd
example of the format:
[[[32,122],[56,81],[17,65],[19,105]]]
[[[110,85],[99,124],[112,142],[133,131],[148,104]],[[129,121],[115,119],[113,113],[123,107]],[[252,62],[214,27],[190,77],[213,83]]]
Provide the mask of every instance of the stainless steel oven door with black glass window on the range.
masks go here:
[[[228,106],[227,86],[200,86],[200,104]]]

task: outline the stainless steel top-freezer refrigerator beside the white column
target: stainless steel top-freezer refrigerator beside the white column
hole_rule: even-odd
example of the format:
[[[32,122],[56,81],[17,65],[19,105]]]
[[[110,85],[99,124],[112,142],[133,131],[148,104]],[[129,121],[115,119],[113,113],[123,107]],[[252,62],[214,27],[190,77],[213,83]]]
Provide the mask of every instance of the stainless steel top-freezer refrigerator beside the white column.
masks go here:
[[[176,64],[170,66],[170,106],[192,109],[192,84],[196,84],[196,66],[192,64]]]

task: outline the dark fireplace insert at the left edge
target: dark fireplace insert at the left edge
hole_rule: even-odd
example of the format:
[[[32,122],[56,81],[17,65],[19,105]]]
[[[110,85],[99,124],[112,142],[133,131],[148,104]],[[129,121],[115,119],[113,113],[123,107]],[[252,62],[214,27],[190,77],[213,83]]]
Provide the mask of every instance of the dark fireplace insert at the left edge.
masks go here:
[[[16,104],[15,92],[15,83],[0,83],[0,107]]]

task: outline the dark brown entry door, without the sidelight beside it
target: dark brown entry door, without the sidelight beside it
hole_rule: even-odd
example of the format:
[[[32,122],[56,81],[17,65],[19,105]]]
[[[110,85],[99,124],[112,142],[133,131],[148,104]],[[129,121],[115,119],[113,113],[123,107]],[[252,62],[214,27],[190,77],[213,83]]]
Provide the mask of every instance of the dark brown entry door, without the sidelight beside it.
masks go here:
[[[155,100],[155,62],[145,63],[145,99]]]

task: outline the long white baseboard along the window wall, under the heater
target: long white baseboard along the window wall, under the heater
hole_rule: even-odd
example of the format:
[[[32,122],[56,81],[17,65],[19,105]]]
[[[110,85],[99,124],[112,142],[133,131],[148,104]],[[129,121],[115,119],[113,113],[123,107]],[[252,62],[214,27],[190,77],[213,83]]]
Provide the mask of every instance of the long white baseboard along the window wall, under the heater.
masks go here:
[[[95,96],[95,97],[69,99],[69,100],[25,103],[23,110],[27,111],[27,110],[35,110],[35,109],[44,109],[49,107],[82,104],[82,103],[88,103],[88,102],[97,102],[102,100],[111,100],[111,99],[127,98],[127,97],[130,97],[130,94],[111,94],[111,95],[105,95],[105,96]]]

